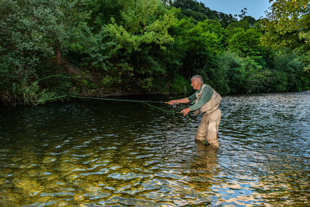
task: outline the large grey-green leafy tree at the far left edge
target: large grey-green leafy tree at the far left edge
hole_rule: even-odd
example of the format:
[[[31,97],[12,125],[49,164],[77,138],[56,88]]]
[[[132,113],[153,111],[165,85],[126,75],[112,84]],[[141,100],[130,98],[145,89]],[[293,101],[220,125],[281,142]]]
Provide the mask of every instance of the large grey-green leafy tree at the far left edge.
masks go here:
[[[0,1],[0,88],[7,99],[21,102],[31,80],[38,77],[38,66],[65,47],[60,4],[57,0]]]

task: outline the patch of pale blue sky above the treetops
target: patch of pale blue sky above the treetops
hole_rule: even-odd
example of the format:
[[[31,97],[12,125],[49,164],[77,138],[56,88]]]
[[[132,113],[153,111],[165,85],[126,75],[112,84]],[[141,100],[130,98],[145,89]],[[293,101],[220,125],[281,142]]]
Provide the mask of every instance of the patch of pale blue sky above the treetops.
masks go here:
[[[268,10],[272,4],[269,0],[198,0],[211,10],[223,12],[225,14],[241,14],[243,8],[247,8],[247,16],[259,19],[265,16],[264,11]]]

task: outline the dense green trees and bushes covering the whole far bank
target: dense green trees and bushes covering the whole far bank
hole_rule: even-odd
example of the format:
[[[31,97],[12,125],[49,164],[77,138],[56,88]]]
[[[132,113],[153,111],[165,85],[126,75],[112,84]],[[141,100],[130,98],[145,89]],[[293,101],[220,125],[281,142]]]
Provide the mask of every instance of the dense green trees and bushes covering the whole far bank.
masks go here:
[[[0,0],[0,98],[189,93],[195,74],[220,94],[310,90],[308,1],[272,9],[255,20],[193,0]],[[36,82],[52,75],[85,78]]]

